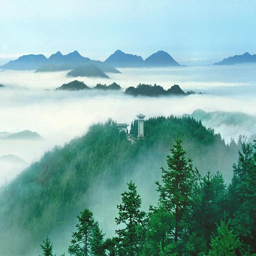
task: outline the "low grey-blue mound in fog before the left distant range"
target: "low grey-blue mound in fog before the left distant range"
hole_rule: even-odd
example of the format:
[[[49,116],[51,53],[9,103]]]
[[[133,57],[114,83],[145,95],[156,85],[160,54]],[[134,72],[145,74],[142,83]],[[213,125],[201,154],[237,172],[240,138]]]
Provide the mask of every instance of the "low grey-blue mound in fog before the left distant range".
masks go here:
[[[87,77],[103,77],[109,78],[100,68],[95,65],[89,64],[84,67],[75,68],[74,70],[68,72],[68,76],[87,76]]]

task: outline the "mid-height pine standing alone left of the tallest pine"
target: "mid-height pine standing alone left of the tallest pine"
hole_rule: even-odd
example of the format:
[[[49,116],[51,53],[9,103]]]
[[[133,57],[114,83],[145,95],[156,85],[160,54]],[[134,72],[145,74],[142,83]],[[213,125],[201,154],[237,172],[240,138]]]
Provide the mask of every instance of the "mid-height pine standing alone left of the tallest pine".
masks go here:
[[[120,239],[121,255],[139,255],[143,237],[143,219],[145,212],[140,211],[141,198],[137,193],[135,183],[127,183],[128,191],[123,192],[122,204],[117,205],[118,218],[115,218],[116,224],[125,224],[125,228],[116,230]]]

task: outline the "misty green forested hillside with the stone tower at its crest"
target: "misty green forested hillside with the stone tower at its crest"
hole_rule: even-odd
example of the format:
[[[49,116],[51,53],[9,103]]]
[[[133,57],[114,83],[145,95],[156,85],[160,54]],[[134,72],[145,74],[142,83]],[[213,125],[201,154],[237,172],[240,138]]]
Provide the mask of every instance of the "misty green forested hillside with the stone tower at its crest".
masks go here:
[[[137,136],[138,121],[131,126],[132,134]],[[190,117],[149,118],[144,134],[144,140],[132,144],[110,120],[91,126],[84,136],[63,148],[56,146],[45,152],[39,162],[0,192],[0,251],[5,255],[28,254],[34,243],[39,244],[47,234],[75,219],[94,196],[90,188],[107,193],[124,177],[126,181],[134,175],[138,182],[145,182],[146,177],[147,184],[154,184],[177,137],[183,140],[188,156],[201,173],[220,170],[226,180],[231,179],[238,147],[225,145],[220,134],[206,129],[200,121]],[[145,187],[145,193],[148,189],[151,186]],[[104,201],[113,204],[108,197]],[[65,232],[58,236],[65,236]]]

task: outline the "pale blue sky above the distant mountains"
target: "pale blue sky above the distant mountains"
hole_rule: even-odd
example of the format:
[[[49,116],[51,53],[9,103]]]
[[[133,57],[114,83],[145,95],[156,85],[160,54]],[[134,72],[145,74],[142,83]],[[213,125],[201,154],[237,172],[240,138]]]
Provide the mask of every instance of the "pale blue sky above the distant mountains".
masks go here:
[[[23,54],[77,50],[105,60],[117,49],[181,64],[256,53],[256,1],[0,0],[0,65]]]

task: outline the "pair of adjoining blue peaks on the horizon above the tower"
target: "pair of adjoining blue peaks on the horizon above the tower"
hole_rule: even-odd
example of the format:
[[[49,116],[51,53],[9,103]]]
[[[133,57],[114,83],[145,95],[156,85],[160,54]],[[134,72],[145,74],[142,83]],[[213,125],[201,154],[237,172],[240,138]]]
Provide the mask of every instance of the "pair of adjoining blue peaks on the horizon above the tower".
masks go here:
[[[117,50],[104,61],[113,67],[166,67],[180,66],[172,56],[164,51],[158,51],[150,55],[146,60],[141,56],[124,53]]]

